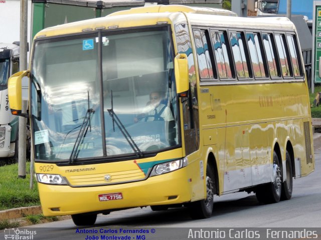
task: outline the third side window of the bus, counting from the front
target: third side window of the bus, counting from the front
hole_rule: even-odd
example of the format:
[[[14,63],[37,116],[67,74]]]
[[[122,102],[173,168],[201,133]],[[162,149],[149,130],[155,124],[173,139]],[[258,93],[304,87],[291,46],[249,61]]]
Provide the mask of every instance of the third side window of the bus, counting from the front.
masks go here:
[[[235,63],[236,75],[238,78],[248,78],[249,67],[247,66],[246,55],[244,51],[243,38],[241,33],[231,33],[230,41]]]

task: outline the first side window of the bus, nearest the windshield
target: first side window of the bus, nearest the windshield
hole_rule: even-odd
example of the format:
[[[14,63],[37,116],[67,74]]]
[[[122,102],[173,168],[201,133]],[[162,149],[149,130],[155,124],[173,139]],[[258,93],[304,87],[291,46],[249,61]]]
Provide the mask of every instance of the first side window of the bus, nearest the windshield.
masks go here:
[[[213,67],[209,53],[208,41],[206,38],[206,32],[195,30],[194,40],[196,45],[197,60],[199,65],[199,74],[202,80],[213,79]]]

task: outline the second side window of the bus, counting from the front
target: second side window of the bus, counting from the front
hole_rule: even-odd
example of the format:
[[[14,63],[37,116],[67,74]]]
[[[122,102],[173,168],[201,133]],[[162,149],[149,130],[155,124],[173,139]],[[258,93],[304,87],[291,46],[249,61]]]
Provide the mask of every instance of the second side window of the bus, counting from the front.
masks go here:
[[[220,78],[232,78],[231,64],[223,32],[211,32],[217,71]]]

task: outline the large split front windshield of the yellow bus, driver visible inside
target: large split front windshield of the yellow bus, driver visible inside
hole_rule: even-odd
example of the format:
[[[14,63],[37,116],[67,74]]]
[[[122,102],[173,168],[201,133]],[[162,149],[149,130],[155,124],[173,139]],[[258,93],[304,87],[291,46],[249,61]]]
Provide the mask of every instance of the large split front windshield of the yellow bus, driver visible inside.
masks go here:
[[[177,146],[170,36],[161,27],[36,41],[35,159],[141,157]]]

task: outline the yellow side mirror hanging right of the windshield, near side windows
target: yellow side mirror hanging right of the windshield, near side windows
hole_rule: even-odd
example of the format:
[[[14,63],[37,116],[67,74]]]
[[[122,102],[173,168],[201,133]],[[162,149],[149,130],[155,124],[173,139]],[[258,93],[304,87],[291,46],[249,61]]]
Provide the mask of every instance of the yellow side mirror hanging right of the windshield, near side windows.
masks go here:
[[[174,59],[177,93],[186,93],[190,88],[189,64],[186,54],[178,54]]]

